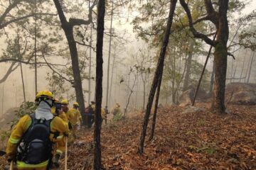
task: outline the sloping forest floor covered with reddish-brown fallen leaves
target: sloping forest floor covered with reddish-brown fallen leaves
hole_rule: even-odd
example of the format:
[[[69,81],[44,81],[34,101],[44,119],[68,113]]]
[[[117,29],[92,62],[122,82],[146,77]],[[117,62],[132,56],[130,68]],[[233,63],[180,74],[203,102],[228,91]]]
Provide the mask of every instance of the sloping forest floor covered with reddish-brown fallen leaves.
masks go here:
[[[154,139],[149,142],[147,135],[142,156],[137,154],[137,148],[143,113],[117,123],[103,123],[102,167],[256,169],[256,106],[230,105],[230,113],[225,115],[210,113],[206,103],[197,106],[206,111],[183,113],[186,108],[160,108]],[[78,139],[68,149],[68,169],[92,169],[92,134],[92,130],[80,130]]]

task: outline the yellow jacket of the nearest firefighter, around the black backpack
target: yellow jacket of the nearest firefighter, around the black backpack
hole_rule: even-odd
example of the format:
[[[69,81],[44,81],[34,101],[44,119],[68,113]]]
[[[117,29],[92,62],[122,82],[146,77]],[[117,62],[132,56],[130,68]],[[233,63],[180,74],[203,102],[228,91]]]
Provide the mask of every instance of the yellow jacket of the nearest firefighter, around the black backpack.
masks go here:
[[[6,154],[8,157],[14,157],[17,152],[17,145],[18,142],[21,140],[23,134],[28,130],[29,126],[31,125],[32,120],[29,115],[24,115],[16,124],[14,130],[11,132],[11,136],[8,140],[7,147],[6,147]],[[50,132],[59,132],[58,137],[54,138],[54,134],[50,134],[50,140],[53,142],[60,142],[64,134],[69,134],[68,125],[63,123],[58,117],[53,118],[50,122]],[[25,162],[17,161],[18,168],[43,168],[46,167],[48,161],[42,162],[41,164],[26,164]]]

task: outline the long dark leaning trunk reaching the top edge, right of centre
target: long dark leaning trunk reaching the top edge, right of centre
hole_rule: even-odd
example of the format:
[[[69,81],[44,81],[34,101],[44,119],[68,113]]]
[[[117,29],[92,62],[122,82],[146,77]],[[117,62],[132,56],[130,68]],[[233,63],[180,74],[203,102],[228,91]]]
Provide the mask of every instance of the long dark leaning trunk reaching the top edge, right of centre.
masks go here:
[[[159,55],[159,60],[157,62],[157,66],[156,66],[156,72],[154,74],[154,79],[151,85],[151,90],[149,93],[149,100],[148,103],[146,105],[146,113],[144,115],[144,122],[142,125],[142,134],[141,137],[139,139],[139,148],[138,148],[138,153],[142,154],[143,153],[143,149],[144,149],[144,141],[145,141],[145,137],[146,137],[146,128],[147,125],[149,123],[149,115],[150,115],[150,111],[151,111],[151,107],[152,107],[152,103],[154,100],[154,94],[156,92],[156,86],[159,83],[159,76],[162,75],[163,69],[164,69],[164,57],[166,54],[166,47],[168,46],[169,43],[169,37],[171,34],[171,24],[174,18],[174,11],[176,8],[176,2],[177,0],[171,0],[170,3],[170,10],[169,10],[169,17],[168,17],[168,23],[166,26],[166,32],[164,35],[164,40],[163,40],[163,44],[161,47],[161,52]]]

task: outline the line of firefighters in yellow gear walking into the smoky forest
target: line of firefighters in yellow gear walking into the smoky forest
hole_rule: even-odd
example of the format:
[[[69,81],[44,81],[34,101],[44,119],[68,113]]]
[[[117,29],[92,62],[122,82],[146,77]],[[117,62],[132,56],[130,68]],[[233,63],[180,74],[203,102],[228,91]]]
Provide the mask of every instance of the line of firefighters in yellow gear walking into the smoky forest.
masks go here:
[[[68,100],[56,101],[50,91],[40,91],[36,95],[36,111],[24,115],[16,124],[9,137],[6,155],[8,162],[16,162],[16,169],[46,170],[58,168],[59,159],[65,152],[66,142],[72,144],[77,137],[82,116],[78,102],[68,108]],[[117,103],[113,115],[121,113]],[[102,109],[102,120],[107,123],[107,107]],[[85,109],[89,120],[88,128],[94,122],[95,102]],[[68,141],[67,141],[68,140]]]

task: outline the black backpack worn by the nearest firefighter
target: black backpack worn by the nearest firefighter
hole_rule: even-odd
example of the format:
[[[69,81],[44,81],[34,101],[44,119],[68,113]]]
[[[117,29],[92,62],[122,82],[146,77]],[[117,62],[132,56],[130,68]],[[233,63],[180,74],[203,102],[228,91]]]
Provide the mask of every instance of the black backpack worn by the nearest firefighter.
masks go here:
[[[53,119],[36,119],[30,115],[31,125],[18,145],[17,160],[26,164],[40,164],[51,158],[50,122]]]

